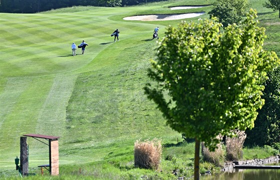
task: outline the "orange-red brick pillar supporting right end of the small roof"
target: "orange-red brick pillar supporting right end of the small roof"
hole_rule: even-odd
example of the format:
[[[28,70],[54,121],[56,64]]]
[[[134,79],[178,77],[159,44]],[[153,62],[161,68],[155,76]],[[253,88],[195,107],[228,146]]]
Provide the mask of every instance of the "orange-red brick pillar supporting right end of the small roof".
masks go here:
[[[50,175],[59,175],[58,140],[49,140],[49,149]]]

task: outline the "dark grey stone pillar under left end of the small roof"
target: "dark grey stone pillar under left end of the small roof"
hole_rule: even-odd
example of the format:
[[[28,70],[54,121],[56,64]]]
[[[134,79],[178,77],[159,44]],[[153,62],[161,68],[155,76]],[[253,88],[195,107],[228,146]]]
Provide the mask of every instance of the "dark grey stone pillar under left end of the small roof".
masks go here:
[[[28,174],[27,137],[20,137],[20,168],[22,175]]]

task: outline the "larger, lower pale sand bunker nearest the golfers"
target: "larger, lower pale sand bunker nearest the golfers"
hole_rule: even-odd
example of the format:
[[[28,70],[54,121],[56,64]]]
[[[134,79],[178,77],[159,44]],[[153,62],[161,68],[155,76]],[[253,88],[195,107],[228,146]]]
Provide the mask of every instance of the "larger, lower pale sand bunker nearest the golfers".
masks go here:
[[[205,12],[185,13],[185,14],[154,14],[154,15],[135,15],[131,17],[124,17],[124,20],[141,20],[141,21],[154,21],[154,20],[177,20],[191,17],[197,17]]]

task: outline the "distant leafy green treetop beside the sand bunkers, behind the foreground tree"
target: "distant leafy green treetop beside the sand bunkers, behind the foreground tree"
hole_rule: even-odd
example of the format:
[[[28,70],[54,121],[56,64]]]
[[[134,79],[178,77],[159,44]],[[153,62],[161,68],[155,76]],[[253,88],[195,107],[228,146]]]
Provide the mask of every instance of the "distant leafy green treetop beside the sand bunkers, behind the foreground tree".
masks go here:
[[[248,0],[215,0],[211,3],[213,8],[208,14],[217,17],[224,27],[239,23],[250,5]]]

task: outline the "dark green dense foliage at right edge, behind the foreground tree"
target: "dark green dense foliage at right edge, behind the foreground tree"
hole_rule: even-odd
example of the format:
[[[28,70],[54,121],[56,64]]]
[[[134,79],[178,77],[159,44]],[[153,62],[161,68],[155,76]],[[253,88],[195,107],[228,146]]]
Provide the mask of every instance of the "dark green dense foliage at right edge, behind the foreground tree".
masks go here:
[[[246,130],[245,145],[272,146],[280,143],[280,67],[268,73],[264,85],[262,98],[265,104],[258,110],[254,128]]]

